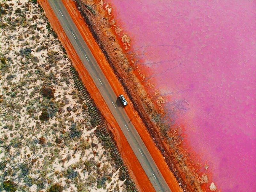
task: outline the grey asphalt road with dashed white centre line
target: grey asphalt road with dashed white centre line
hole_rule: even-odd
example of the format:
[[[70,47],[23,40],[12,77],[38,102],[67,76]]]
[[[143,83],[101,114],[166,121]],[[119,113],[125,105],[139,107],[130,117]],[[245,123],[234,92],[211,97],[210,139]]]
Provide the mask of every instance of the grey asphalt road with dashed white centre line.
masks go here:
[[[132,150],[137,156],[142,168],[146,172],[155,190],[157,192],[171,191],[161,172],[157,168],[153,158],[149,154],[148,149],[140,138],[139,133],[127,116],[120,101],[117,99],[117,96],[110,86],[106,76],[103,74],[97,61],[93,57],[92,52],[85,43],[79,30],[76,28],[76,25],[73,23],[65,6],[60,0],[48,0],[48,2],[51,5],[52,10],[54,11],[58,20],[60,21],[60,24],[68,36],[71,44],[76,50],[76,53],[83,62],[84,67],[90,73],[95,85],[98,87],[103,99],[107,103],[108,108],[121,127],[126,139],[131,145]]]

